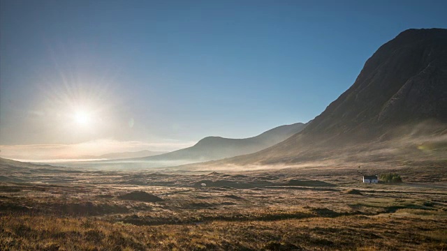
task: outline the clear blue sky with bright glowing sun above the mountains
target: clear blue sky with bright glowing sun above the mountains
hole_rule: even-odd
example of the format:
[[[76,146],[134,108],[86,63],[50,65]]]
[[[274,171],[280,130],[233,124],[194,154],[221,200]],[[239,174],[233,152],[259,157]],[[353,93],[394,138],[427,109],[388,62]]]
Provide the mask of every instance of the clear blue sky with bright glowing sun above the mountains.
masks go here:
[[[446,1],[0,3],[3,155],[173,151],[305,123],[383,43],[447,28]]]

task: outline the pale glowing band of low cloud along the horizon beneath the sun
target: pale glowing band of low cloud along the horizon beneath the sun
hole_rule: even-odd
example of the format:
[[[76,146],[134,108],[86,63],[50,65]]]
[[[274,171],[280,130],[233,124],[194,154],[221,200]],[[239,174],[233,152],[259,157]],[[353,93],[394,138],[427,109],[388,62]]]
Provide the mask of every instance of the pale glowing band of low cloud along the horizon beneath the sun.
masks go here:
[[[175,151],[192,146],[196,142],[178,142],[163,140],[161,142],[118,141],[115,139],[97,139],[79,144],[27,144],[0,146],[0,156],[22,160],[42,160],[54,158],[81,158],[104,153],[126,151]]]

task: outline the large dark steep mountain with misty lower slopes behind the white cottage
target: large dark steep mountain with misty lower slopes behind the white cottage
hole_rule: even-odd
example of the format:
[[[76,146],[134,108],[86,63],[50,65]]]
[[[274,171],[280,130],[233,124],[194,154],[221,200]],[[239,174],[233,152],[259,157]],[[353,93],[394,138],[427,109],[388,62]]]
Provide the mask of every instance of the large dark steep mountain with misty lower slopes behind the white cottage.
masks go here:
[[[203,165],[445,159],[446,151],[437,150],[446,149],[446,123],[447,30],[409,29],[382,45],[356,82],[302,132],[263,151]],[[427,145],[434,151],[423,150]]]

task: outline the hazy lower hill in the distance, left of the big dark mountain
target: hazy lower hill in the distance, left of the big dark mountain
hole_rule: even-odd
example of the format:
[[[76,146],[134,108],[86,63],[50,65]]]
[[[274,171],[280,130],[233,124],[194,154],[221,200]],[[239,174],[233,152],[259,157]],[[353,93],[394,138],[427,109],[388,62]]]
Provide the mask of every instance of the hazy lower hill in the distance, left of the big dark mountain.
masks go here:
[[[236,155],[254,153],[269,146],[273,146],[306,127],[304,123],[279,126],[256,137],[246,139],[228,139],[223,137],[205,137],[194,146],[180,149],[170,153],[150,156],[146,158],[134,158],[131,161],[144,162],[202,162],[207,160],[219,160]]]

